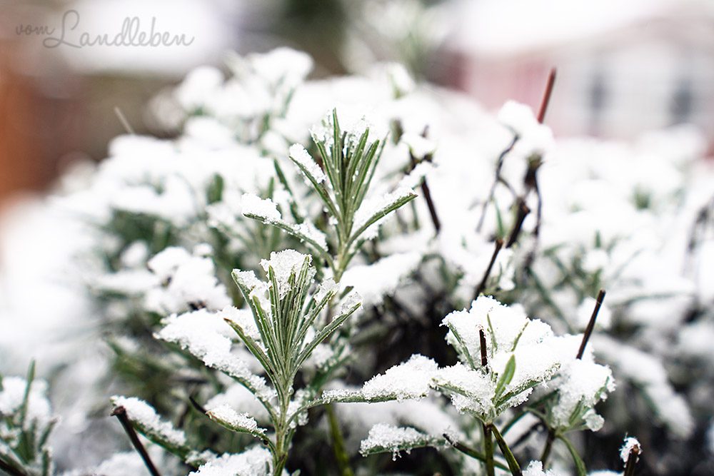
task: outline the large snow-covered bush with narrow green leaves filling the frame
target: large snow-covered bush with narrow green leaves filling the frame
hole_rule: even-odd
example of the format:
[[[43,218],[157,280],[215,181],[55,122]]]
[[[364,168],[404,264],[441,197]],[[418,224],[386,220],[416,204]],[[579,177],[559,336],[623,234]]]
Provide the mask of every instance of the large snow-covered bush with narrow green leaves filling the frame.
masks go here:
[[[492,116],[394,64],[319,81],[288,49],[227,64],[154,104],[177,138],[116,138],[11,228],[72,246],[33,278],[53,319],[4,311],[6,362],[34,355],[65,420],[50,437],[47,385],[2,380],[4,470],[673,474],[711,457],[714,171],[695,133],[555,141],[526,106]]]

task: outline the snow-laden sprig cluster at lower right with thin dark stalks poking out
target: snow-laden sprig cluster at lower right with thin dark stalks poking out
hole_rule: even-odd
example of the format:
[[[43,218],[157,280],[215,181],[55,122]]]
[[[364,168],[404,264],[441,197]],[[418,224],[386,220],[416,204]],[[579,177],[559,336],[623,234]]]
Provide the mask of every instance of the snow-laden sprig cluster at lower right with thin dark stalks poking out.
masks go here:
[[[413,427],[393,427],[378,424],[363,440],[361,452],[371,455],[416,447],[453,445],[464,455],[483,461],[486,474],[495,468],[508,468],[513,475],[521,474],[521,466],[503,437],[527,413],[538,415],[554,436],[563,440],[571,452],[578,475],[585,475],[585,465],[578,452],[563,437],[565,432],[589,428],[599,430],[601,418],[593,407],[614,390],[610,370],[593,363],[591,353],[583,358],[587,341],[579,336],[555,337],[550,326],[526,317],[522,308],[506,306],[481,296],[471,309],[446,316],[447,342],[456,349],[456,365],[438,368],[433,360],[414,355],[408,362],[391,368],[363,385],[360,390],[328,390],[321,402],[383,402],[388,400],[421,399],[430,390],[438,390],[451,398],[461,414],[476,417],[481,424],[478,440],[483,451],[474,449],[473,424],[453,428],[443,435],[428,435]],[[583,347],[578,352],[578,345]],[[536,388],[540,390],[530,401]],[[545,387],[547,388],[547,387]],[[503,415],[519,407],[506,422]],[[545,405],[547,413],[541,410]],[[501,430],[499,430],[501,427]],[[493,438],[501,448],[505,462],[494,457]],[[473,441],[469,441],[469,438]],[[548,445],[552,441],[549,440]],[[548,452],[550,450],[548,449]],[[543,460],[547,460],[545,454]]]

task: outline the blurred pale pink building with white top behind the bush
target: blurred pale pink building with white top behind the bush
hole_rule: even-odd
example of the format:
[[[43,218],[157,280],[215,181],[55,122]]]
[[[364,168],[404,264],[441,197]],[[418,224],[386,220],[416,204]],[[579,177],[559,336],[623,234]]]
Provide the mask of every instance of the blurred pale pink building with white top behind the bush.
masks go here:
[[[490,108],[540,102],[560,135],[628,138],[694,123],[714,145],[714,2],[464,1],[446,42],[444,80]]]

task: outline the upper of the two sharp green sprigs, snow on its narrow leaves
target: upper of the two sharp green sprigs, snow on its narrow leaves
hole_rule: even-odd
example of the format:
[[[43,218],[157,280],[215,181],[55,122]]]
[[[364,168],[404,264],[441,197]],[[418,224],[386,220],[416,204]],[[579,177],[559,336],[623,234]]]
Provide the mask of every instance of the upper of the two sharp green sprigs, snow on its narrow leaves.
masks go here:
[[[331,240],[310,221],[290,224],[270,201],[244,198],[243,213],[263,223],[277,226],[308,245],[326,262],[339,281],[361,243],[374,238],[378,221],[416,198],[411,188],[401,187],[383,196],[365,200],[386,138],[374,138],[365,118],[358,118],[347,130],[341,128],[333,109],[312,137],[322,166],[300,144],[290,148],[290,158],[315,191],[328,214]],[[251,206],[254,204],[255,206]],[[299,218],[294,217],[293,218]]]

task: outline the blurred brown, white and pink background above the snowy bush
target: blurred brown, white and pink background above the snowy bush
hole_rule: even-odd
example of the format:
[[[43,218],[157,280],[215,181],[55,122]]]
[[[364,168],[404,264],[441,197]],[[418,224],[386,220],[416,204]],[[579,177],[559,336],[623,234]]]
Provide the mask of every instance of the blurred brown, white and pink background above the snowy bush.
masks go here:
[[[135,18],[140,31],[153,21],[190,44],[81,44]],[[693,123],[713,150],[710,0],[5,0],[0,213],[74,161],[104,158],[126,128],[116,108],[136,132],[171,136],[147,113],[161,91],[198,65],[220,66],[226,51],[280,45],[308,51],[313,76],[400,61],[489,109],[507,98],[537,105],[555,66],[556,136],[627,139]]]

